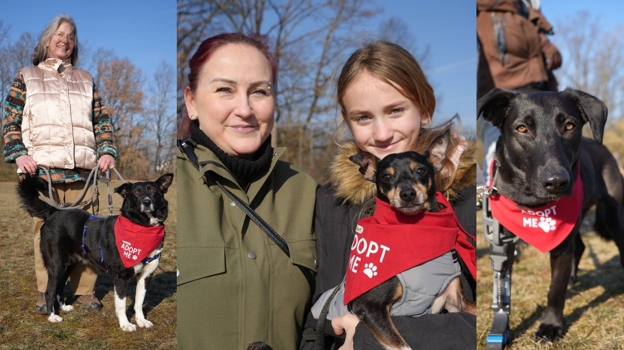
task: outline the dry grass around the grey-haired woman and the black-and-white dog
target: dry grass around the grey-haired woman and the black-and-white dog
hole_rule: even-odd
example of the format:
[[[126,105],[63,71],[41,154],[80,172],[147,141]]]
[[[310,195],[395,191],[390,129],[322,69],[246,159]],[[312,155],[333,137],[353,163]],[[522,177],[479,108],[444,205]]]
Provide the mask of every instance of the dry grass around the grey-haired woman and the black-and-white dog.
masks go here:
[[[130,181],[132,182],[132,181]],[[113,181],[112,186],[121,184]],[[100,181],[100,215],[108,214],[104,181]],[[0,182],[0,349],[175,349],[176,348],[176,194],[174,181],[165,197],[169,202],[167,234],[160,265],[145,295],[145,317],[154,328],[122,331],[115,316],[113,281],[101,273],[95,283],[95,296],[102,301],[101,311],[85,311],[76,301],[76,310],[61,313],[62,323],[49,323],[34,312],[37,285],[31,219],[19,209],[14,182]],[[113,194],[115,214],[122,198]],[[127,315],[134,323],[134,291],[130,283]],[[69,284],[66,298],[71,295]],[[73,300],[76,300],[74,297]]]

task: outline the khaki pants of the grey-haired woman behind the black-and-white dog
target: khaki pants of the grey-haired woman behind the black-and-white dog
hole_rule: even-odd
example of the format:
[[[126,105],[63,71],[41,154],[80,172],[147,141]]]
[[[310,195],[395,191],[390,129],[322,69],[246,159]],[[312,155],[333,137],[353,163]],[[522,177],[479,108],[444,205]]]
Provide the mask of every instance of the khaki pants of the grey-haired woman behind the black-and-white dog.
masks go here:
[[[91,184],[85,197],[89,197]],[[52,196],[57,203],[66,203],[76,201],[80,192],[84,189],[84,182],[71,182],[69,184],[52,184]],[[47,192],[46,197],[48,196]],[[95,194],[91,201],[81,208],[97,215],[99,210],[99,201],[97,198],[98,191],[95,187]],[[32,217],[32,235],[34,237],[34,249],[35,249],[35,274],[37,277],[37,290],[46,291],[47,288],[47,268],[43,263],[41,256],[41,248],[39,248],[39,241],[41,240],[41,226],[43,220],[38,217]],[[74,295],[87,295],[94,293],[95,280],[97,279],[97,268],[91,265],[85,265],[82,262],[78,262],[69,280],[72,283],[72,292]]]

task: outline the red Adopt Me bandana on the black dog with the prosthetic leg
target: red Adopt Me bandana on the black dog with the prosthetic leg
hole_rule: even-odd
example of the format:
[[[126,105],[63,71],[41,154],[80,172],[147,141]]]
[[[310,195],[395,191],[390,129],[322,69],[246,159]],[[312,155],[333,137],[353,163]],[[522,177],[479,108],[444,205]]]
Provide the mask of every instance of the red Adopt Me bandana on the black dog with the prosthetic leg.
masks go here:
[[[492,165],[494,161],[492,161]],[[511,199],[497,194],[490,196],[490,210],[505,229],[510,230],[524,242],[538,248],[542,253],[557,247],[577,224],[583,206],[583,181],[580,163],[577,163],[577,180],[572,196],[562,197],[540,207],[520,207]],[[492,174],[490,165],[490,174]],[[490,186],[492,180],[490,176]]]

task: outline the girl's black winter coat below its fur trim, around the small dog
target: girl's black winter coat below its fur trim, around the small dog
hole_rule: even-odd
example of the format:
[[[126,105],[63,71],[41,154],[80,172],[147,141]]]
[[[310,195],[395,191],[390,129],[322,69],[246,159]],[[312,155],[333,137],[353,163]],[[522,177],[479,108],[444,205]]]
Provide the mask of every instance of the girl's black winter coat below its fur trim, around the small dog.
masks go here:
[[[359,206],[341,204],[336,198],[334,188],[325,184],[316,192],[315,234],[318,252],[318,273],[313,301],[324,291],[338,285],[346,273],[346,266],[351,253],[353,232],[358,219],[371,213],[361,213]],[[451,202],[457,219],[469,234],[476,234],[475,186],[462,189]],[[474,240],[469,241],[476,245]],[[467,271],[467,269],[462,269]],[[467,298],[475,300],[475,282],[468,272],[461,277],[464,293]],[[392,316],[399,333],[412,349],[471,349],[476,347],[476,317],[469,313],[447,313],[444,315],[422,315],[416,318],[409,316]],[[304,340],[301,350],[314,349],[314,328],[316,319],[308,315]],[[325,348],[338,349],[341,339],[333,334],[331,322],[325,323]],[[343,334],[344,337],[344,334]],[[458,339],[465,341],[458,342]],[[358,324],[354,335],[354,349],[383,349],[362,323]]]

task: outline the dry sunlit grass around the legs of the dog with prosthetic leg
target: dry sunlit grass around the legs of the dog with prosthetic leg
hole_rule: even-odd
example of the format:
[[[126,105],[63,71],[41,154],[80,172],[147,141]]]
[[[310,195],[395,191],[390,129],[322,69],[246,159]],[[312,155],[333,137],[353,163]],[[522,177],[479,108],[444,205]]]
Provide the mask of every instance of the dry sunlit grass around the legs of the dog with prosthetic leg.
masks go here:
[[[488,244],[477,212],[477,349],[485,349],[492,324],[492,270]],[[582,227],[587,246],[580,261],[578,282],[565,295],[563,322],[566,334],[557,343],[538,344],[535,331],[547,304],[550,285],[548,254],[522,244],[512,273],[511,350],[624,349],[624,270],[613,242],[592,232],[593,212]]]

